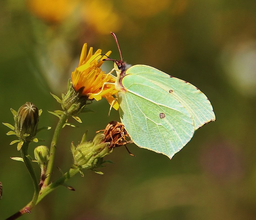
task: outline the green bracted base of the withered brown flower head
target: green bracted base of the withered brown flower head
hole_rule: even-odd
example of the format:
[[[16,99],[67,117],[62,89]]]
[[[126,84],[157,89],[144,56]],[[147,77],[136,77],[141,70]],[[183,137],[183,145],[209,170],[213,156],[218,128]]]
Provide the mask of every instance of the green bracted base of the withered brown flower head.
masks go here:
[[[98,133],[92,142],[80,143],[77,147],[71,144],[71,151],[74,158],[72,168],[80,167],[81,169],[96,168],[102,163],[102,158],[112,152],[109,149],[109,142],[104,143],[105,135]]]

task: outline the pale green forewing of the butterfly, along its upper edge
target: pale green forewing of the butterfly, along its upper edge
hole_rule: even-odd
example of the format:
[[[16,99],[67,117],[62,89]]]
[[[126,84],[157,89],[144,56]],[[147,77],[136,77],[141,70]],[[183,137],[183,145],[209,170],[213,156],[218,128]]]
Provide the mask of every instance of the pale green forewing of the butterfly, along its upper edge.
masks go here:
[[[126,71],[126,74],[141,76],[169,93],[172,98],[178,100],[191,115],[195,130],[205,123],[215,120],[210,101],[194,85],[184,80],[170,77],[168,74],[146,65],[132,66]]]

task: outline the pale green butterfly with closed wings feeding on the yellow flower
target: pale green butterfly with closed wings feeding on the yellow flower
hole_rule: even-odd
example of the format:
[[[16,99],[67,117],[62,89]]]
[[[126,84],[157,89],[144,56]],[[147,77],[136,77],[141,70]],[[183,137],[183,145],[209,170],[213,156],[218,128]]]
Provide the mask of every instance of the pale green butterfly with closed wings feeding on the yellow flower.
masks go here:
[[[120,119],[139,147],[170,159],[204,124],[215,121],[209,99],[197,87],[147,65],[114,61]]]

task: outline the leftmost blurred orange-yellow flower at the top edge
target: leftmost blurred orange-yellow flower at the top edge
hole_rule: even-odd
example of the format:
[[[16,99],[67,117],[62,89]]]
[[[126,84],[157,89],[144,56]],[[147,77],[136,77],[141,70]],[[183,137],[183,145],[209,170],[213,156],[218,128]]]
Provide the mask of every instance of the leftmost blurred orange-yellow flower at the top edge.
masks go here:
[[[77,0],[28,0],[32,13],[48,22],[61,22],[75,9]]]

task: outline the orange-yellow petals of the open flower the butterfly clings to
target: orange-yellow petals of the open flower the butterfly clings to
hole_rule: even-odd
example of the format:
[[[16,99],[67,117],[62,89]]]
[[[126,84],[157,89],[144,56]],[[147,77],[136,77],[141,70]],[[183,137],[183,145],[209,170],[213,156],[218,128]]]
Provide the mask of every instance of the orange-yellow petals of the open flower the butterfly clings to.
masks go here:
[[[90,47],[88,54],[86,52],[87,44],[85,43],[78,67],[71,74],[74,89],[79,91],[81,95],[88,96],[89,99],[99,101],[103,97],[117,110],[119,104],[113,97],[118,92],[114,85],[115,79],[111,74],[106,74],[100,68],[103,63],[102,60],[106,56],[101,55],[101,49],[92,54],[92,47]],[[111,51],[108,51],[106,55],[109,56],[110,53]]]

